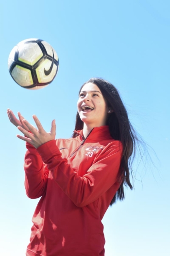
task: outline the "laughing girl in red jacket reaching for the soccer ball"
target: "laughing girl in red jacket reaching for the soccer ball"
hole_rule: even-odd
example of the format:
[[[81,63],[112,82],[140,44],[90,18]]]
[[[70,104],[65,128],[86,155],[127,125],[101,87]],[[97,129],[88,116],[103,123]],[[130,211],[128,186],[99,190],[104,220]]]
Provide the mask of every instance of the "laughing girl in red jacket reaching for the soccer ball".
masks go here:
[[[8,109],[25,135],[25,189],[41,197],[33,216],[27,256],[104,256],[102,217],[130,183],[136,135],[117,89],[92,78],[80,89],[72,138],[55,140]]]

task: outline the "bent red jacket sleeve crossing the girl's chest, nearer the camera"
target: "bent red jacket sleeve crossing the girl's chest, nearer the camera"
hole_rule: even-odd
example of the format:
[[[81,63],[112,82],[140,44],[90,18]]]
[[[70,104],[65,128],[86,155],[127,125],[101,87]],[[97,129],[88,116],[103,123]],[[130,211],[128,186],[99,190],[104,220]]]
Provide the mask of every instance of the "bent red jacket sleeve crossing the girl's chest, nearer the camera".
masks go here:
[[[122,154],[120,142],[110,143],[103,149],[83,177],[71,169],[66,158],[61,157],[55,140],[41,145],[36,150],[51,170],[58,186],[78,207],[92,203],[119,182],[118,172]]]

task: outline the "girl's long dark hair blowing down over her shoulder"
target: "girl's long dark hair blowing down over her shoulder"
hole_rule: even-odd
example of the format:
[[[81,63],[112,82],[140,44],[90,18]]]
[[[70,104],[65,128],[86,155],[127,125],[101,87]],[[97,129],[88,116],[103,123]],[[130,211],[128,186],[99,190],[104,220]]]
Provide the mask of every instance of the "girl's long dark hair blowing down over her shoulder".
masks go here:
[[[131,190],[133,189],[133,185],[130,181],[130,173],[132,175],[132,179],[134,179],[132,162],[136,154],[136,147],[139,146],[140,142],[142,143],[142,141],[138,138],[136,131],[129,121],[128,113],[115,86],[101,78],[91,78],[85,84],[87,83],[97,85],[107,102],[107,106],[114,110],[114,112],[108,115],[106,125],[109,126],[109,131],[112,138],[121,141],[123,145],[119,169],[119,178],[121,178],[122,182],[110,203],[110,205],[112,205],[117,201],[117,199],[124,199],[124,186],[129,186]],[[82,87],[84,85],[82,85]],[[80,88],[80,91],[82,87]],[[79,113],[77,112],[75,130],[83,129],[83,124],[84,123],[80,119]],[[72,137],[74,138],[76,136],[77,134],[73,133]]]

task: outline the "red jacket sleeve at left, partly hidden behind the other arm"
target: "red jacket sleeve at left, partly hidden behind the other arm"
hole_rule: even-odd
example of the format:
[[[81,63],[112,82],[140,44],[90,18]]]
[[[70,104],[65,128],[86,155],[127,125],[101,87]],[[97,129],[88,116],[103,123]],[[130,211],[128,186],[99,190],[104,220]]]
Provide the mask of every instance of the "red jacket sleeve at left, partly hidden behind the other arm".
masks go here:
[[[29,143],[26,143],[26,147],[24,185],[27,196],[35,199],[46,192],[49,170],[47,165],[43,163],[36,149]]]

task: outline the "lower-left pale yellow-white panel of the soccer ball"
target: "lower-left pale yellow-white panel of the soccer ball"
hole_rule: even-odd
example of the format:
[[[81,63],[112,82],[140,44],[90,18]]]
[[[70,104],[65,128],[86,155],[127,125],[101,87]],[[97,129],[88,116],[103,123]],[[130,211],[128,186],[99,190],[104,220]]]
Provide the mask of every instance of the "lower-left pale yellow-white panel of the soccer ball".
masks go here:
[[[13,71],[11,72],[12,77],[14,80],[21,86],[29,86],[33,85],[33,79],[31,75],[31,71],[29,69],[15,66]]]

